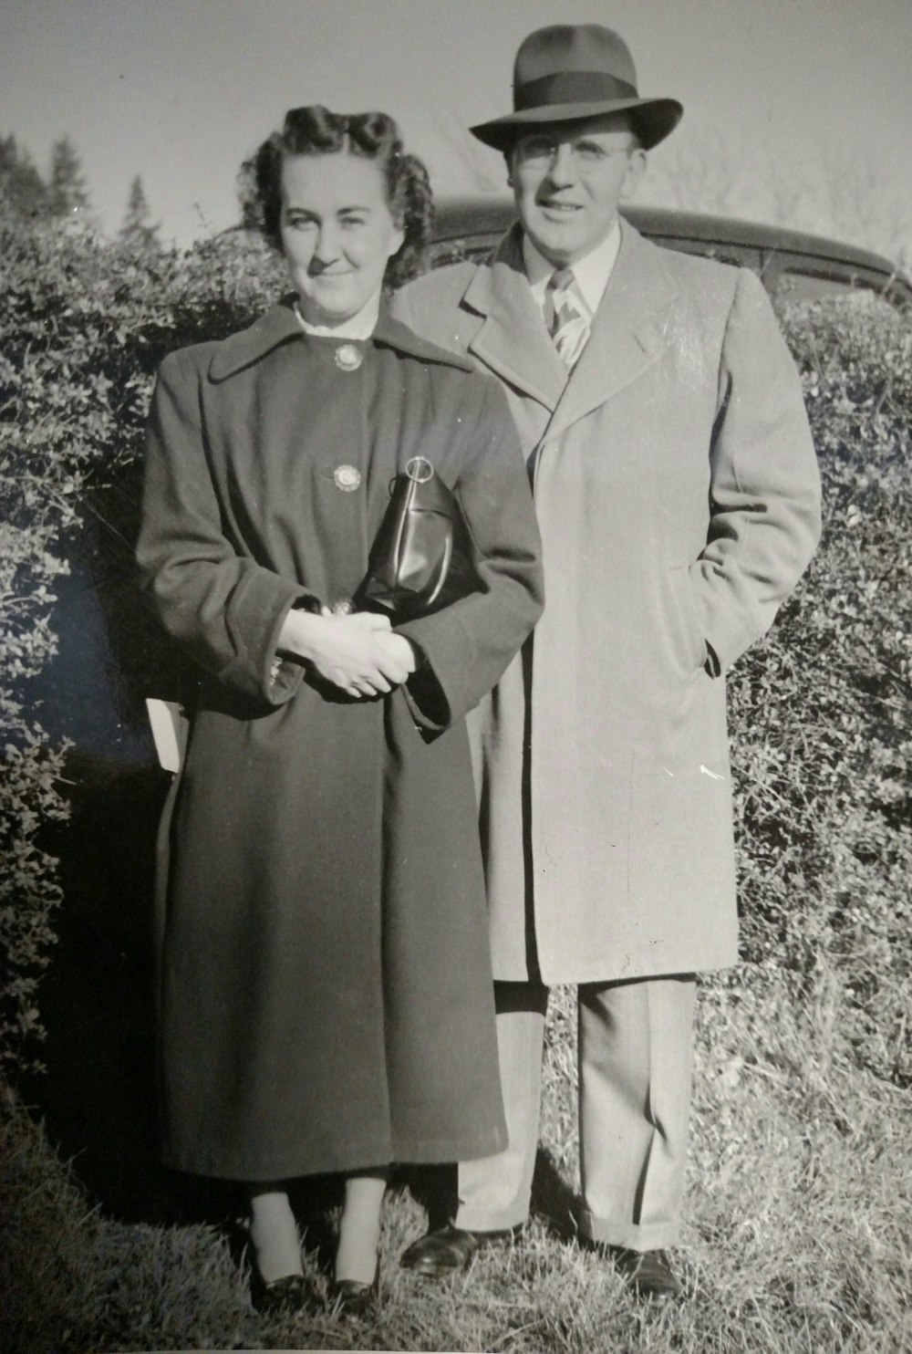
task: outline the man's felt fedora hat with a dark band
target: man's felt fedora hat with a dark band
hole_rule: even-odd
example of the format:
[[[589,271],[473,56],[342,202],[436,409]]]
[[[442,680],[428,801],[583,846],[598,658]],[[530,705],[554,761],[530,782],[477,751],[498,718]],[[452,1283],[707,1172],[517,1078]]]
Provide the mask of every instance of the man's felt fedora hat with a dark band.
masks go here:
[[[640,99],[629,49],[598,23],[556,23],[522,42],[513,66],[513,112],[471,127],[495,150],[509,150],[526,127],[603,112],[629,112],[643,148],[655,146],[678,125],[677,99]]]

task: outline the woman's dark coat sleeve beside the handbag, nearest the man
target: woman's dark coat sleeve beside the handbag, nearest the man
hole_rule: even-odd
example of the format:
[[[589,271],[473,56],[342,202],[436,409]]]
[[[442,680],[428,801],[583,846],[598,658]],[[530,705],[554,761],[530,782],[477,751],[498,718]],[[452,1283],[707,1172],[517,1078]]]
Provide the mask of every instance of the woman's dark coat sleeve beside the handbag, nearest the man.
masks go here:
[[[396,627],[422,655],[410,688],[413,712],[426,728],[445,727],[479,703],[544,605],[541,540],[506,397],[487,376],[471,382],[479,399],[455,490],[475,546],[480,589]]]

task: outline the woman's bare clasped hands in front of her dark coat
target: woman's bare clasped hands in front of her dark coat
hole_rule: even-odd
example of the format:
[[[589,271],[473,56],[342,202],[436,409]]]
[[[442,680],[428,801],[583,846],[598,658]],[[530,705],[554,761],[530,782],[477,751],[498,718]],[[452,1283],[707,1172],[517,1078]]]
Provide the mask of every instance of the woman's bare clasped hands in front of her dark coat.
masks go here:
[[[390,617],[369,611],[336,616],[291,611],[279,650],[313,663],[325,681],[349,696],[386,696],[415,670],[415,651],[392,631]]]

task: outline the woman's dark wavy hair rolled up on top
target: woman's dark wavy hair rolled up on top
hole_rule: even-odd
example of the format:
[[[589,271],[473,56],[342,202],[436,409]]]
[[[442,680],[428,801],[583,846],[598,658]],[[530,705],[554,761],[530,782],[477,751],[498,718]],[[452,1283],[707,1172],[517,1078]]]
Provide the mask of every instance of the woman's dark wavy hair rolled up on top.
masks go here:
[[[346,150],[373,161],[386,183],[387,206],[403,230],[402,248],[387,263],[383,286],[395,290],[422,271],[434,204],[428,171],[406,154],[399,127],[386,112],[330,112],[322,104],[291,108],[241,168],[244,225],[258,229],[281,252],[281,167],[288,156],[332,156]]]

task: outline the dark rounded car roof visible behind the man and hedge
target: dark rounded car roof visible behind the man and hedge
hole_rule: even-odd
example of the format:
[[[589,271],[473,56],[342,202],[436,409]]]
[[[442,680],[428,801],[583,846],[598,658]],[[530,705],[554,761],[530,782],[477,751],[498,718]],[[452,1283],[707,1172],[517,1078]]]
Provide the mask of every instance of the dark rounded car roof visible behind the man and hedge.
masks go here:
[[[893,306],[912,306],[912,280],[889,259],[869,249],[783,226],[696,211],[628,206],[624,215],[658,245],[751,268],[778,299],[813,301],[862,288],[885,297]],[[483,257],[513,218],[507,196],[442,199],[434,230],[434,265]]]

